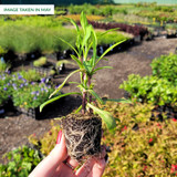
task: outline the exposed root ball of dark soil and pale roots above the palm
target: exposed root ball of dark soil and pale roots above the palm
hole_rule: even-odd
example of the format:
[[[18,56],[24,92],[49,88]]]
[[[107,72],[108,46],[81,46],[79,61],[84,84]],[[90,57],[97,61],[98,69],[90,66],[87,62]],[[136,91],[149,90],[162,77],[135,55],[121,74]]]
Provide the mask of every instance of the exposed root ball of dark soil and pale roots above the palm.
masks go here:
[[[96,115],[70,114],[61,119],[67,153],[82,162],[101,153],[102,119]]]

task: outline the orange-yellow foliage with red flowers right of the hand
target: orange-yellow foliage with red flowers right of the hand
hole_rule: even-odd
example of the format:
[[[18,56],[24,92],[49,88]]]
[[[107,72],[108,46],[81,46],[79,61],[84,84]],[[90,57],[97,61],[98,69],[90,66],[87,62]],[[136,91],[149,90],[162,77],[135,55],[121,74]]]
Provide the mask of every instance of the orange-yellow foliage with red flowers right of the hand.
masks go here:
[[[177,165],[176,119],[149,121],[154,108],[150,104],[107,103],[104,108],[117,121],[114,135],[104,131],[103,143],[112,149],[104,177],[174,176],[177,173],[174,168]]]

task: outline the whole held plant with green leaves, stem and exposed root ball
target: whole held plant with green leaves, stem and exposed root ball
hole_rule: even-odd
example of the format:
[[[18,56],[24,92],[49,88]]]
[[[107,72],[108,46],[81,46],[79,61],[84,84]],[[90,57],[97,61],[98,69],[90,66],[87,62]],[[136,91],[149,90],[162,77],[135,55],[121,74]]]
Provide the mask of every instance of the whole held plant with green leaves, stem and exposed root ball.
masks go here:
[[[80,73],[81,82],[76,84],[80,92],[72,92],[59,95],[44,102],[40,110],[63,96],[79,94],[82,96],[82,105],[75,111],[74,114],[69,114],[61,119],[61,127],[65,136],[65,143],[69,155],[77,159],[79,162],[87,156],[96,156],[101,153],[101,136],[102,136],[102,119],[106,124],[108,129],[114,129],[116,122],[114,117],[103,110],[100,110],[95,105],[95,101],[104,104],[103,101],[95,92],[94,84],[92,83],[93,75],[102,69],[111,69],[110,66],[96,67],[97,63],[104,59],[104,55],[108,53],[113,48],[122,42],[115,43],[108,48],[101,56],[96,55],[97,38],[95,31],[91,24],[88,24],[86,15],[81,13],[81,27],[69,19],[71,23],[76,28],[76,49],[74,49],[70,43],[61,39],[63,42],[67,43],[75,52],[76,55],[71,54],[73,61],[76,62],[80,69],[73,71],[66,76],[64,82],[51,94],[53,96],[56,94],[66,83],[66,81],[75,73]],[[110,30],[113,31],[113,30]],[[106,31],[105,33],[107,33]],[[88,51],[93,50],[92,56],[88,58]],[[51,97],[50,96],[50,97]]]

